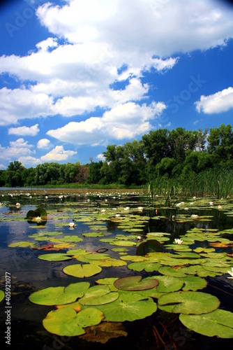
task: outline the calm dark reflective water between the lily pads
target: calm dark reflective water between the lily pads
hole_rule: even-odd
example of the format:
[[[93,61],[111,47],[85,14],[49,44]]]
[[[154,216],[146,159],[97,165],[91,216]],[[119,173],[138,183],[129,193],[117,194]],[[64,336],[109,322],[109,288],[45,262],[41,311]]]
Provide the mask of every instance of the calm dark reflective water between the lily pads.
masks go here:
[[[77,260],[69,260],[65,262],[48,262],[38,259],[38,255],[42,252],[31,248],[9,248],[8,245],[15,241],[32,241],[29,235],[39,232],[32,228],[32,225],[24,221],[19,221],[14,216],[24,218],[27,211],[34,210],[37,207],[44,207],[48,212],[48,220],[45,225],[46,231],[62,230],[63,235],[81,235],[84,232],[89,232],[89,228],[84,223],[78,222],[75,230],[72,232],[68,225],[58,228],[56,223],[69,223],[73,220],[73,213],[79,209],[80,214],[87,211],[89,208],[104,208],[108,207],[125,207],[130,206],[130,209],[146,206],[145,198],[142,193],[135,191],[134,193],[124,193],[114,191],[102,191],[98,193],[95,190],[58,190],[57,193],[50,193],[49,190],[38,194],[34,194],[34,190],[29,189],[29,195],[17,190],[17,193],[8,189],[1,192],[4,194],[0,197],[2,203],[0,207],[0,269],[1,269],[1,290],[5,289],[6,274],[11,280],[11,298],[10,298],[10,338],[11,349],[221,349],[222,347],[229,348],[232,346],[232,339],[218,339],[218,337],[204,337],[193,331],[187,330],[178,319],[178,315],[170,314],[164,311],[156,311],[150,317],[140,321],[125,322],[123,326],[128,332],[127,337],[119,337],[111,339],[106,344],[98,344],[87,342],[82,337],[59,337],[52,335],[43,328],[43,318],[54,307],[43,307],[29,302],[29,295],[35,291],[50,286],[67,286],[70,283],[82,281],[72,276],[63,273],[63,267],[77,263]],[[70,192],[69,192],[70,191]],[[54,191],[52,191],[54,192]],[[87,194],[88,192],[88,194]],[[131,191],[132,192],[132,191]],[[10,194],[8,194],[10,193]],[[59,198],[59,195],[65,197]],[[99,194],[101,194],[99,196]],[[45,198],[47,196],[47,198]],[[105,202],[107,199],[107,202]],[[20,208],[17,209],[15,204],[20,202]],[[106,204],[107,203],[107,204]],[[66,218],[61,217],[61,211],[66,214]],[[144,232],[169,232],[171,233],[171,242],[174,237],[183,235],[187,230],[195,226],[202,228],[233,228],[233,218],[227,217],[223,211],[216,209],[200,209],[200,212],[190,212],[189,214],[213,215],[212,221],[202,223],[176,223],[170,220],[172,215],[176,214],[178,209],[160,209],[158,214],[165,216],[161,220],[153,220],[150,218],[149,223],[145,225]],[[57,214],[56,214],[57,211]],[[50,212],[52,219],[50,220]],[[55,213],[55,214],[54,214]],[[179,211],[181,213],[181,211]],[[144,211],[143,215],[152,217],[153,211]],[[112,232],[112,235],[125,234],[123,230],[117,228],[117,224],[110,221],[106,223],[106,230]],[[87,251],[96,251],[98,248],[107,248],[107,253],[112,257],[119,258],[118,253],[110,251],[112,246],[107,243],[102,243],[100,246],[99,238],[83,237],[83,241],[78,243],[78,248],[84,248]],[[46,242],[43,242],[43,244]],[[166,242],[167,243],[167,242]],[[169,243],[169,242],[168,242]],[[224,251],[224,248],[218,248],[216,251]],[[65,252],[66,250],[64,250]],[[46,253],[46,252],[45,252]],[[128,253],[135,254],[135,248],[129,248]],[[91,285],[94,285],[95,280],[105,278],[107,276],[126,276],[138,274],[130,271],[127,267],[108,267],[103,268],[103,271],[98,276],[85,279]],[[146,272],[140,273],[142,276],[148,276]],[[154,273],[156,274],[156,273]],[[153,275],[153,274],[151,274]],[[207,278],[208,286],[204,292],[216,295],[221,304],[222,309],[233,311],[232,303],[232,280],[227,279],[226,275]],[[0,321],[1,321],[1,344],[5,344],[6,339],[6,304],[3,300],[0,304]],[[159,332],[156,335],[153,326]]]

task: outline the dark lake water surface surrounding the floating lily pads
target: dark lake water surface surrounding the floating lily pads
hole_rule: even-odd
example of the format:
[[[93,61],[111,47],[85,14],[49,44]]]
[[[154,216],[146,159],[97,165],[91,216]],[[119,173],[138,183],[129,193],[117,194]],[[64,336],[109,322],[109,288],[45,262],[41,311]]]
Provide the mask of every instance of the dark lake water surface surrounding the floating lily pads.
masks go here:
[[[9,247],[9,244],[20,241],[35,240],[29,235],[38,232],[62,231],[62,237],[66,235],[77,235],[82,237],[72,248],[82,248],[88,252],[95,252],[98,249],[106,249],[106,253],[112,258],[119,259],[119,252],[112,251],[112,244],[107,241],[100,241],[100,237],[85,237],[82,234],[87,232],[98,232],[96,227],[91,227],[90,221],[93,214],[99,215],[109,209],[115,210],[121,217],[129,211],[131,216],[145,216],[142,227],[133,232],[127,232],[119,228],[118,221],[104,219],[100,224],[101,229],[107,234],[106,237],[117,237],[117,235],[140,235],[142,241],[148,232],[166,232],[170,234],[169,241],[164,244],[172,244],[174,238],[185,235],[193,228],[202,229],[203,232],[210,230],[226,230],[233,228],[232,209],[230,200],[214,205],[209,205],[206,198],[205,205],[191,207],[191,200],[185,199],[186,204],[174,205],[172,208],[164,208],[160,205],[160,198],[156,200],[155,209],[147,206],[146,195],[140,190],[35,190],[35,189],[1,189],[0,190],[0,269],[1,269],[1,290],[5,291],[6,280],[10,279],[10,311],[6,314],[6,300],[0,304],[1,321],[1,344],[7,341],[6,335],[10,336],[11,349],[221,349],[232,346],[232,339],[220,337],[206,337],[197,332],[188,330],[180,321],[179,314],[158,309],[154,314],[142,320],[125,321],[122,329],[127,336],[110,339],[105,344],[91,342],[80,337],[61,337],[47,332],[43,327],[43,319],[47,313],[54,310],[54,307],[41,306],[29,301],[29,295],[36,290],[47,287],[68,286],[77,281],[89,281],[91,286],[95,285],[97,279],[117,276],[133,276],[140,274],[143,278],[156,276],[158,272],[135,272],[126,266],[103,267],[100,274],[85,279],[78,279],[63,272],[63,268],[77,263],[77,260],[68,261],[43,261],[38,258],[41,254],[52,253],[53,251],[42,251],[30,247]],[[20,207],[16,204],[20,203]],[[177,200],[177,203],[179,201]],[[220,208],[221,206],[221,208]],[[40,225],[29,223],[24,218],[29,210],[43,207],[47,211],[47,221],[44,228]],[[143,207],[142,211],[139,207]],[[129,209],[128,209],[129,208]],[[183,208],[183,209],[182,209]],[[157,211],[156,211],[157,209]],[[204,217],[203,220],[185,220],[193,214]],[[127,214],[128,215],[128,214]],[[182,216],[183,215],[183,216]],[[85,221],[85,218],[87,220]],[[75,228],[70,230],[68,223],[75,223]],[[121,226],[121,225],[120,225]],[[104,228],[103,228],[104,227]],[[135,226],[137,228],[137,225]],[[139,226],[138,226],[139,227]],[[141,230],[141,231],[140,231]],[[60,235],[59,235],[60,237]],[[232,235],[225,235],[226,239],[232,240]],[[136,255],[138,242],[134,239],[135,246],[127,246],[128,255]],[[51,244],[50,241],[36,241],[37,247],[43,244]],[[199,246],[209,247],[208,241],[195,242],[192,249]],[[215,247],[216,253],[232,253],[232,246]],[[59,252],[66,253],[67,248]],[[57,251],[55,251],[57,252]],[[230,267],[229,267],[230,269]],[[232,279],[227,279],[229,274],[210,277],[205,279],[208,282],[206,288],[201,290],[204,293],[215,295],[220,300],[220,308],[233,311],[232,303]],[[156,300],[155,300],[156,301]],[[7,318],[8,317],[8,318]],[[10,328],[7,328],[7,321],[10,321]],[[91,337],[91,336],[90,336]],[[91,340],[91,339],[89,339]]]

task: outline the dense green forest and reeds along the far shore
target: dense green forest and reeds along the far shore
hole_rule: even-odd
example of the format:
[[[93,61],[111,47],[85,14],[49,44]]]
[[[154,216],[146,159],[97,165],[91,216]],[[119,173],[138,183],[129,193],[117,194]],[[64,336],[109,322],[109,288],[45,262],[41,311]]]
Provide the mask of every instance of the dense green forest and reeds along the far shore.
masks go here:
[[[0,171],[0,186],[182,186],[190,193],[197,188],[232,186],[232,125],[206,130],[187,131],[158,129],[144,134],[140,141],[123,146],[109,145],[103,152],[105,161],[80,165],[43,163],[25,168],[10,162]],[[216,188],[213,188],[216,191]]]

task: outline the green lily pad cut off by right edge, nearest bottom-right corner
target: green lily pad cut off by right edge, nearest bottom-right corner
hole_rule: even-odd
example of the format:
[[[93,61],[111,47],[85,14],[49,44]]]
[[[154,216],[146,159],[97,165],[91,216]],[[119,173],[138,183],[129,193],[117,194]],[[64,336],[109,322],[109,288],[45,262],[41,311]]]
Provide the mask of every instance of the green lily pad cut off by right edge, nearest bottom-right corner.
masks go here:
[[[217,309],[209,314],[179,315],[183,325],[207,337],[233,338],[233,313]]]

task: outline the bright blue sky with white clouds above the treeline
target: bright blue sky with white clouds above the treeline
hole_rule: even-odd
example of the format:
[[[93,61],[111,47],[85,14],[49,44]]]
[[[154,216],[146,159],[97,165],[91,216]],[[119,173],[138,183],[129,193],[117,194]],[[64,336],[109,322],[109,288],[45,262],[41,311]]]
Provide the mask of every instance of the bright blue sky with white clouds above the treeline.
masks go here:
[[[0,169],[232,125],[231,1],[8,0],[0,31]]]

